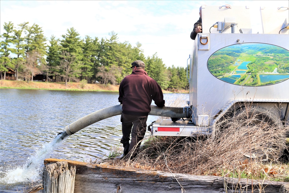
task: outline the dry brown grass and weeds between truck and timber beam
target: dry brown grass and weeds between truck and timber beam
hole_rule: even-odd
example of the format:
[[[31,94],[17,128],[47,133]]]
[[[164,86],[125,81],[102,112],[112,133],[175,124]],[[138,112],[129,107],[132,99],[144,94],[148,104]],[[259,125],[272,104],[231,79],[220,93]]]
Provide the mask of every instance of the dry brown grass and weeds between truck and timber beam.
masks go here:
[[[284,136],[289,127],[260,121],[258,113],[247,119],[246,113],[220,120],[209,139],[148,136],[137,157],[109,164],[192,175],[289,180],[289,165],[279,161],[279,150],[288,148]],[[250,153],[255,158],[244,156]]]

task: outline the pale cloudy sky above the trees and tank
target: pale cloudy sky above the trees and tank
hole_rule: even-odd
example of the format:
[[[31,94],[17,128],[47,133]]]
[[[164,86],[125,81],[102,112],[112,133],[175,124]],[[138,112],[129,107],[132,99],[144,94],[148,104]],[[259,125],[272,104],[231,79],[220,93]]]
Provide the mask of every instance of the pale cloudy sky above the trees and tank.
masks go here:
[[[249,6],[252,33],[262,33],[260,6],[289,7],[288,0],[263,1],[0,1],[0,33],[4,22],[15,27],[23,22],[42,27],[45,37],[62,39],[74,27],[84,39],[108,38],[142,44],[144,55],[162,58],[167,67],[186,67],[192,50],[190,33],[199,19],[201,5]],[[136,58],[137,60],[138,58]]]

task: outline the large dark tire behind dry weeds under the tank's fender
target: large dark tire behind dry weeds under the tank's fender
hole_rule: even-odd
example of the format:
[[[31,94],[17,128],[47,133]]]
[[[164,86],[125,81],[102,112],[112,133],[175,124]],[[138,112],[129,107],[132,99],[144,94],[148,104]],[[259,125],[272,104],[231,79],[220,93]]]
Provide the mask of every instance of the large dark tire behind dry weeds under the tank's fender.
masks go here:
[[[262,161],[275,161],[283,153],[286,135],[284,125],[275,113],[261,106],[245,106],[236,109],[227,119],[238,123],[235,130],[228,130],[228,132],[236,132],[239,129],[247,130],[244,135],[248,137],[249,134],[251,135],[251,144],[254,139],[262,140],[261,135],[264,135],[263,145],[255,147],[251,145],[251,152],[243,152],[245,157],[261,159]],[[254,135],[257,137],[254,138]]]

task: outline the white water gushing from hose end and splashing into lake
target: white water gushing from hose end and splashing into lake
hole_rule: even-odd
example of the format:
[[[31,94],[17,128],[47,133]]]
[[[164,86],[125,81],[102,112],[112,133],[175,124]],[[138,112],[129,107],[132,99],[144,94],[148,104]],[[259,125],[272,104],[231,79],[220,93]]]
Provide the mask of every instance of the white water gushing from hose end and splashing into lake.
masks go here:
[[[29,157],[22,167],[7,170],[0,179],[1,184],[15,184],[21,182],[37,181],[41,179],[43,161],[49,158],[51,152],[58,148],[69,135],[64,131],[59,133],[53,141],[43,144],[35,155]]]

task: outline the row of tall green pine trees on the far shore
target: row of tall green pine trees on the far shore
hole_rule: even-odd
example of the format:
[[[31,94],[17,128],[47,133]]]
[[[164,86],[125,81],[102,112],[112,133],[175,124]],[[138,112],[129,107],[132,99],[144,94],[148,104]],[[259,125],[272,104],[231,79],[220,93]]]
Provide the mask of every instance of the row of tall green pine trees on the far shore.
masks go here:
[[[132,46],[128,41],[119,42],[117,33],[109,33],[109,38],[91,38],[80,34],[71,27],[62,35],[54,35],[48,40],[42,27],[29,26],[28,22],[16,27],[10,21],[4,23],[1,34],[0,71],[5,80],[9,68],[15,71],[16,80],[23,78],[33,81],[37,74],[45,75],[46,81],[65,82],[86,81],[88,83],[119,84],[131,74],[131,63],[142,60],[149,76],[160,84],[162,89],[188,89],[187,69],[166,67],[157,53],[144,56],[142,44]],[[53,80],[53,81],[54,81]]]

